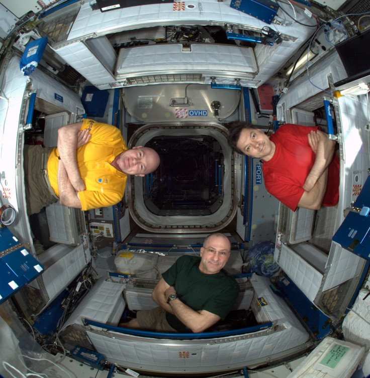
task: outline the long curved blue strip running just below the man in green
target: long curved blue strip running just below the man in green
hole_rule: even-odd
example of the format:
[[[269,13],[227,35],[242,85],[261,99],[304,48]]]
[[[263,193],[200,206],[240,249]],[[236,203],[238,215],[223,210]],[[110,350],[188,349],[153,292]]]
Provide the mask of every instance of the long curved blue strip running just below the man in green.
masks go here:
[[[252,333],[261,331],[272,327],[271,322],[259,324],[253,327],[246,327],[240,329],[234,329],[232,331],[220,331],[220,332],[200,332],[200,333],[170,333],[170,332],[151,332],[151,331],[141,331],[138,329],[124,328],[124,327],[115,327],[113,325],[96,322],[90,319],[82,319],[85,324],[93,325],[95,327],[105,328],[109,331],[120,332],[123,334],[134,335],[134,336],[143,336],[150,338],[165,338],[165,339],[211,339],[215,337],[228,337],[241,335],[245,333]]]

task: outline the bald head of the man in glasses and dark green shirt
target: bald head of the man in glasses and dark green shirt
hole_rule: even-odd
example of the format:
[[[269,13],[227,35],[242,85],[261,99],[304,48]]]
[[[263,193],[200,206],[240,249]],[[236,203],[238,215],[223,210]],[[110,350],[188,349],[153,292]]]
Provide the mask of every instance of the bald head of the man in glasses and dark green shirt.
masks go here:
[[[214,234],[201,247],[199,270],[205,274],[216,274],[226,265],[230,256],[230,241],[222,234]]]

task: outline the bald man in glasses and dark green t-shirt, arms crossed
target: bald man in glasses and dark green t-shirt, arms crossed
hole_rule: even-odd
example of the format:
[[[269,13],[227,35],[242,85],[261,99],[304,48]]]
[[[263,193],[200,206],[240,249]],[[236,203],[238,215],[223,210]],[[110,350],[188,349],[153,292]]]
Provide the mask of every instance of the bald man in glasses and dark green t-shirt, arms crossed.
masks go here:
[[[209,235],[200,258],[181,256],[162,274],[152,298],[159,305],[138,311],[122,327],[160,332],[203,332],[224,319],[239,293],[239,285],[223,268],[230,241],[222,233]]]

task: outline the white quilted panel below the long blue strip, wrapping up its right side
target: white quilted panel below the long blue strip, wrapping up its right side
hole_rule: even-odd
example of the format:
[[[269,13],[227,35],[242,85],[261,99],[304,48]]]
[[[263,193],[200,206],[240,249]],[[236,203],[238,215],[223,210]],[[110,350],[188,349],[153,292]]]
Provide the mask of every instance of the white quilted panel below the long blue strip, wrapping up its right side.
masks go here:
[[[162,340],[130,337],[116,332],[96,334],[87,331],[98,352],[104,354],[110,362],[128,366],[142,367],[151,371],[217,371],[225,366],[248,365],[248,361],[257,358],[268,359],[275,353],[295,348],[308,340],[308,333],[287,304],[274,295],[265,277],[252,276],[256,296],[263,296],[268,305],[263,310],[269,321],[284,324],[282,331],[263,335],[263,332],[252,333],[253,337],[245,340],[236,339],[218,343],[198,343],[176,340],[168,344]],[[185,354],[184,354],[185,353]],[[187,357],[186,357],[187,356]]]

